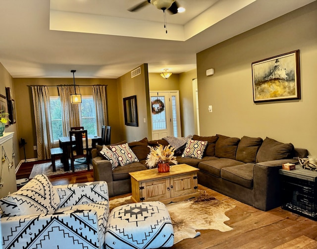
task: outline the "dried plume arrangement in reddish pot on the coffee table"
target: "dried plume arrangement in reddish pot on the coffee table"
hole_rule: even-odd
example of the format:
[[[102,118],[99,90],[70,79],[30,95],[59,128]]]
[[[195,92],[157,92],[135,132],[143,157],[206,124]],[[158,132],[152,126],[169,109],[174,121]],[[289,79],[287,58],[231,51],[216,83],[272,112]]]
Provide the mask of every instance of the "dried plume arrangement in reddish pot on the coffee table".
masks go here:
[[[159,145],[157,147],[151,147],[150,153],[148,154],[146,164],[148,167],[158,167],[159,172],[168,172],[169,163],[177,164],[176,156],[174,156],[175,148],[168,146]]]

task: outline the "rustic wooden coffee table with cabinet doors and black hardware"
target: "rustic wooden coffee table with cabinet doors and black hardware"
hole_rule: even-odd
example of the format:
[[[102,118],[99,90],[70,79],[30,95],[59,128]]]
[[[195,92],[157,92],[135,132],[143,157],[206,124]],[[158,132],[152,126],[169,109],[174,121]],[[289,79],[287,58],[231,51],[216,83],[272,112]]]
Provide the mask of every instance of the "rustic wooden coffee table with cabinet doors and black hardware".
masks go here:
[[[157,168],[131,172],[131,199],[134,202],[159,200],[167,204],[197,197],[198,171],[187,164],[177,164],[166,173],[159,173]]]

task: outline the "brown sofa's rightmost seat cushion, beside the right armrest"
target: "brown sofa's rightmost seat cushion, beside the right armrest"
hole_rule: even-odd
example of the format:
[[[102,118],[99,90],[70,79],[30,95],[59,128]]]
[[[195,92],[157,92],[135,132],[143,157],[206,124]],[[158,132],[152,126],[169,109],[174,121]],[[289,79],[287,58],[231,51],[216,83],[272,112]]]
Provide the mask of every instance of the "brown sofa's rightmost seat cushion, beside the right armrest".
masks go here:
[[[221,178],[239,184],[248,189],[253,188],[254,163],[246,163],[221,169]]]

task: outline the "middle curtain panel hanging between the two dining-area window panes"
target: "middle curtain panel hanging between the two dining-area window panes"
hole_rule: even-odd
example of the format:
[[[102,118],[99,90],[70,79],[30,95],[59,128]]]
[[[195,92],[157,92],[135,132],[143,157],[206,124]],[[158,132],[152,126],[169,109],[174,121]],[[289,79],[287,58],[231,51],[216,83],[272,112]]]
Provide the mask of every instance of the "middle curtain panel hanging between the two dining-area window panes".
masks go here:
[[[73,86],[57,86],[61,103],[61,120],[63,136],[69,136],[70,127],[78,127],[81,123],[80,104],[72,104],[70,95],[75,94]],[[76,93],[79,94],[79,87],[76,86]]]

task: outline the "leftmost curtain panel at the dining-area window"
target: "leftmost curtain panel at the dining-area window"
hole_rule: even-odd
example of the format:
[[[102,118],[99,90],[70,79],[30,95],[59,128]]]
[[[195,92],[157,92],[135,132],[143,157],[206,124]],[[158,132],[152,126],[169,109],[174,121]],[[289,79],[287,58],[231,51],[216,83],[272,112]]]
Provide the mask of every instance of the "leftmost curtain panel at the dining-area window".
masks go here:
[[[51,128],[50,93],[46,86],[31,86],[38,159],[51,158],[53,132]]]

